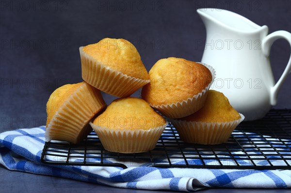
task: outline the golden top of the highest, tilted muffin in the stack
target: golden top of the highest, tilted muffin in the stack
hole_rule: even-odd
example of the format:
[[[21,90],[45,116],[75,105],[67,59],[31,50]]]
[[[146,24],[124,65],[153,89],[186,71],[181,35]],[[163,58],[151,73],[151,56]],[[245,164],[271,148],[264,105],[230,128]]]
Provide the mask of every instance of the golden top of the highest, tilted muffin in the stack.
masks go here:
[[[149,79],[137,49],[127,40],[104,38],[97,44],[84,46],[83,51],[93,59],[123,74]]]

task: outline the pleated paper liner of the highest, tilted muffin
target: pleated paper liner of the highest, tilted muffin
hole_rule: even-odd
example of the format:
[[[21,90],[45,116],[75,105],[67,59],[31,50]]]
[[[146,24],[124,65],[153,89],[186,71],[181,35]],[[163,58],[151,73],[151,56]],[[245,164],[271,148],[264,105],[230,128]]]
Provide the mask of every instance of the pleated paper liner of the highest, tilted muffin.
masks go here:
[[[145,86],[150,80],[131,77],[93,59],[79,48],[82,78],[93,87],[117,97],[127,97]]]

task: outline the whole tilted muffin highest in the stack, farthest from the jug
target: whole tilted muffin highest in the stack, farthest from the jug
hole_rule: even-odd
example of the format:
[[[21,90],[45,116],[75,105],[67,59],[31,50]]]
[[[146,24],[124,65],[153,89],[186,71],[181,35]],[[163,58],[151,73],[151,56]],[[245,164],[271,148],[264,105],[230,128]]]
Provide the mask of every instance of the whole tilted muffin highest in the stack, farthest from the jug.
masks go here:
[[[82,78],[97,89],[126,97],[149,83],[138,51],[127,40],[105,38],[79,50]]]

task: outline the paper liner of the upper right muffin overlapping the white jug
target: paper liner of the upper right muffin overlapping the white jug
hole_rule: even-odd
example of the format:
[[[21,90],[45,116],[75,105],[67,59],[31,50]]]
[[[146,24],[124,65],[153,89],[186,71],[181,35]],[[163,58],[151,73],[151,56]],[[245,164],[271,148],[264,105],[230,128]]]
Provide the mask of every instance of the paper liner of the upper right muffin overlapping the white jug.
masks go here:
[[[208,90],[210,89],[210,86],[212,85],[214,79],[215,79],[215,70],[210,65],[207,65],[205,63],[199,64],[204,65],[210,70],[210,73],[212,75],[212,80],[209,83],[209,85],[203,89],[198,94],[194,95],[192,98],[188,98],[187,100],[176,102],[172,104],[161,104],[161,105],[154,105],[150,104],[153,108],[159,110],[164,116],[172,119],[182,118],[186,117],[188,115],[192,115],[196,111],[198,111],[202,106],[204,105]]]

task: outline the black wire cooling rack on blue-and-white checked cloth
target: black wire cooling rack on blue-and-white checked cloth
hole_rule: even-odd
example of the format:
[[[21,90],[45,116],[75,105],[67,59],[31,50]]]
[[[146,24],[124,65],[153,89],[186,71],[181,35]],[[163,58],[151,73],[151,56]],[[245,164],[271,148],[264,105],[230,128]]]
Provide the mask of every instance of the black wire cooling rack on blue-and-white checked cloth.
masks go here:
[[[242,122],[228,142],[188,144],[169,124],[156,148],[144,153],[113,153],[92,132],[80,144],[46,142],[41,161],[48,164],[115,166],[143,165],[209,169],[291,169],[291,109],[272,109],[263,119]]]

